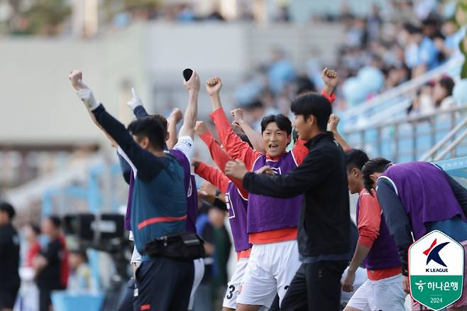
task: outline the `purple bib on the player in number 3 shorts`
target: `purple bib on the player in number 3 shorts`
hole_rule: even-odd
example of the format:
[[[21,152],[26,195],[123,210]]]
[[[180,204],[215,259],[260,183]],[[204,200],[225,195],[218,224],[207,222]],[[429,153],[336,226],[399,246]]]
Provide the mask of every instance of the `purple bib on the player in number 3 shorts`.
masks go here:
[[[248,233],[246,233],[248,200],[242,197],[234,182],[229,182],[229,187],[227,187],[226,204],[235,251],[250,249],[251,244],[248,243]]]

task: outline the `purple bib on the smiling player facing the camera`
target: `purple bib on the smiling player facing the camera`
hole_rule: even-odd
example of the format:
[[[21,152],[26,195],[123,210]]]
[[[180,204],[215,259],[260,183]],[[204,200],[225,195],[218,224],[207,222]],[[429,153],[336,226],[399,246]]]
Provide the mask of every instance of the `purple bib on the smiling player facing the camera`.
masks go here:
[[[254,172],[264,165],[270,166],[279,175],[297,168],[292,152],[283,154],[277,161],[260,155],[253,164],[252,171]],[[278,199],[251,193],[248,196],[248,233],[298,227],[302,203],[302,195],[290,199]]]

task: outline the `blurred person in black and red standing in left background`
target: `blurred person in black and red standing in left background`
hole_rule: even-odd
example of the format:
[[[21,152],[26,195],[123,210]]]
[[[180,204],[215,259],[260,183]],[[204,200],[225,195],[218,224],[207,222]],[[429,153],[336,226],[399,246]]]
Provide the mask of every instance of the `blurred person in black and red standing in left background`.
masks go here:
[[[50,216],[43,220],[42,232],[48,236],[48,244],[40,250],[33,260],[36,283],[39,288],[39,310],[49,311],[52,306],[52,290],[67,288],[68,267],[67,249],[62,238],[60,218]],[[66,271],[65,271],[66,269]]]

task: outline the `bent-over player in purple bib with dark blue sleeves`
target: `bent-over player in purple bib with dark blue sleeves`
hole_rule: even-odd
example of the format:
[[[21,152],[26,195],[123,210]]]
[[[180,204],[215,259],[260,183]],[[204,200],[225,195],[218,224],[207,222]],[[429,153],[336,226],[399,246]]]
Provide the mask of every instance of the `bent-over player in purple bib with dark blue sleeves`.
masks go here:
[[[461,243],[467,259],[467,220],[461,208],[465,207],[467,190],[444,170],[433,163],[392,164],[385,158],[375,158],[363,166],[362,172],[366,189],[376,189],[390,234],[397,244],[406,293],[410,292],[407,251],[413,239],[437,229]],[[467,270],[462,296],[448,310],[467,310]]]

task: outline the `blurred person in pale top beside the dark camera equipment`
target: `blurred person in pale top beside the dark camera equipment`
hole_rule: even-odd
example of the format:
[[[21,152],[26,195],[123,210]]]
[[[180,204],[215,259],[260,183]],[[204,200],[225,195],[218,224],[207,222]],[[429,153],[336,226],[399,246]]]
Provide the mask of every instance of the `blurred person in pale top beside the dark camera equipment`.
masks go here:
[[[68,278],[68,290],[72,293],[94,293],[97,288],[92,280],[86,251],[80,249],[70,251],[69,262],[70,278]]]

